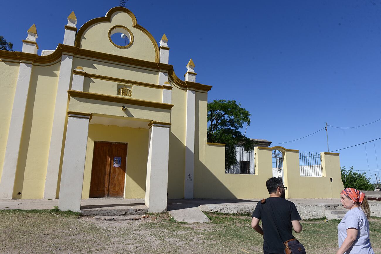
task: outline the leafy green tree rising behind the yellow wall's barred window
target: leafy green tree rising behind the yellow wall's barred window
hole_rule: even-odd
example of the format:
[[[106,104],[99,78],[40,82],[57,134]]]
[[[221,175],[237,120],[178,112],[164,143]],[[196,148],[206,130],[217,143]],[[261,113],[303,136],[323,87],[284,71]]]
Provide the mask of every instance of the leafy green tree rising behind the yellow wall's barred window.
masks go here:
[[[250,125],[250,116],[236,101],[208,102],[208,142],[226,144],[226,169],[237,163],[234,145],[241,145],[245,151],[254,149],[255,143],[240,132],[245,123]]]

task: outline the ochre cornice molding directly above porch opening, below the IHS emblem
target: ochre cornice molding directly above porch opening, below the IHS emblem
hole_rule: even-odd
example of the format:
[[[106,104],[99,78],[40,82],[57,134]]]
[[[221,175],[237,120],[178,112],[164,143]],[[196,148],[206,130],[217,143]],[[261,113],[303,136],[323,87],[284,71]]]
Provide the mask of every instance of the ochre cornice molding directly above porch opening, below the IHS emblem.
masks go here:
[[[138,99],[132,99],[127,97],[107,95],[107,94],[98,94],[98,93],[89,93],[75,90],[68,90],[67,93],[70,97],[78,97],[84,99],[93,99],[98,101],[109,101],[109,102],[118,102],[123,104],[144,106],[144,107],[153,107],[157,109],[172,109],[173,104],[162,103],[162,102],[153,102],[153,101],[144,101]]]

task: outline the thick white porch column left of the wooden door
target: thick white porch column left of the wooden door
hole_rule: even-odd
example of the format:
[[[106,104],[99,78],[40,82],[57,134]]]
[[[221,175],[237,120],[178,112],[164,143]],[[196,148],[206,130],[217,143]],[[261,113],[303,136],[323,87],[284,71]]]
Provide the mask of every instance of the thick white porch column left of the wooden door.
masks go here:
[[[58,200],[61,211],[81,210],[89,121],[90,115],[69,114]]]

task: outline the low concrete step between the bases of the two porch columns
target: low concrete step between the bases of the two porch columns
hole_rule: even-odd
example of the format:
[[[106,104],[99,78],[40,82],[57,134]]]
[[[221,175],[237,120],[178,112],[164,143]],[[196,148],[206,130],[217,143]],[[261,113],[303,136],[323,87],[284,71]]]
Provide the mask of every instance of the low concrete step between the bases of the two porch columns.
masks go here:
[[[134,216],[142,216],[148,212],[147,206],[144,208],[92,208],[92,209],[81,209],[81,213],[83,215],[90,216],[123,216],[123,215],[134,215]]]

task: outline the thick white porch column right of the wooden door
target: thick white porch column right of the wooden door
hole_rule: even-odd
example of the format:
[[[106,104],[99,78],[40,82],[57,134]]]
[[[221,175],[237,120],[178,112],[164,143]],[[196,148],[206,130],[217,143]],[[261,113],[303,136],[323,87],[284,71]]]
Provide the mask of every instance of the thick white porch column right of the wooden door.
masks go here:
[[[146,200],[149,212],[166,211],[170,126],[150,123]]]

